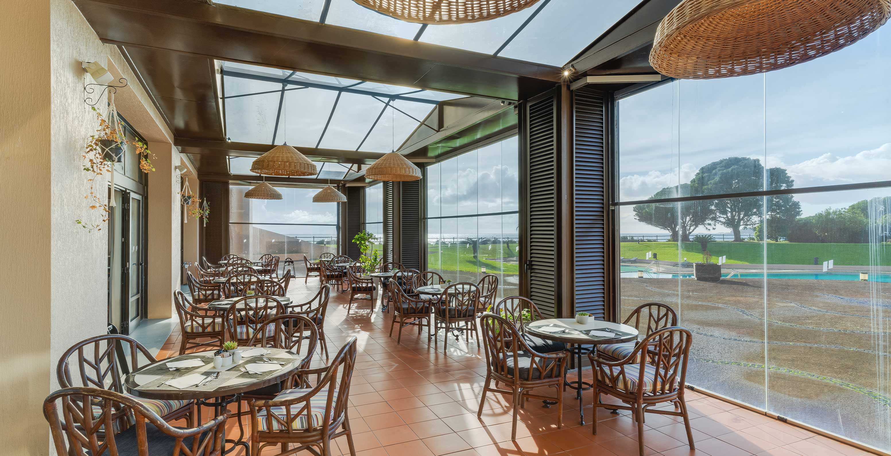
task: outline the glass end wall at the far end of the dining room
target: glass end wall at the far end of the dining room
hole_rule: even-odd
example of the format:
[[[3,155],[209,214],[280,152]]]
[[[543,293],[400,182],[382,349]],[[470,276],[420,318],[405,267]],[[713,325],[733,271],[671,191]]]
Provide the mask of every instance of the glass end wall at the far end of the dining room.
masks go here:
[[[229,187],[229,253],[257,260],[280,256],[294,260],[294,273],[306,274],[303,256],[337,255],[338,203],[314,203],[318,189],[275,187],[282,199],[246,199],[251,187]],[[283,269],[282,269],[283,271]]]

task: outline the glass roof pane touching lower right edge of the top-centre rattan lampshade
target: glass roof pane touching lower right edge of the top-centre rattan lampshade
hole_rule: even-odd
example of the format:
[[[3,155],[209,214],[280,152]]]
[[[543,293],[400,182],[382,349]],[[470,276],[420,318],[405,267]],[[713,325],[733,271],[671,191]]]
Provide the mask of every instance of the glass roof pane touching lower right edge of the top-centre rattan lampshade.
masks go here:
[[[537,9],[538,4],[535,4],[525,10],[495,20],[470,24],[429,25],[421,35],[420,41],[433,45],[457,47],[477,53],[495,53],[523,24],[523,21],[527,20]]]

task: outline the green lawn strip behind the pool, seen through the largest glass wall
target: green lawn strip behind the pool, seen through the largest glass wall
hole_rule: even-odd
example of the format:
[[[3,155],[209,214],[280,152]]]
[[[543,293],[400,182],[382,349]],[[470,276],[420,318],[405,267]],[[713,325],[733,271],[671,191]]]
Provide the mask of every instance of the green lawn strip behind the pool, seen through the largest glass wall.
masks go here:
[[[882,250],[887,244],[881,244]],[[767,242],[768,265],[813,265],[813,257],[823,261],[835,260],[835,265],[870,265],[870,244],[817,244],[798,242]],[[658,254],[659,260],[677,261],[677,242],[622,242],[621,255],[625,258],[641,259],[647,252]],[[756,241],[712,242],[708,244],[712,261],[718,256],[727,256],[727,263],[763,263],[764,245]],[[886,252],[882,252],[886,253]],[[888,251],[887,254],[891,254]],[[881,255],[881,265],[891,265],[891,255]],[[702,261],[702,250],[697,242],[683,242],[681,260],[696,263]]]

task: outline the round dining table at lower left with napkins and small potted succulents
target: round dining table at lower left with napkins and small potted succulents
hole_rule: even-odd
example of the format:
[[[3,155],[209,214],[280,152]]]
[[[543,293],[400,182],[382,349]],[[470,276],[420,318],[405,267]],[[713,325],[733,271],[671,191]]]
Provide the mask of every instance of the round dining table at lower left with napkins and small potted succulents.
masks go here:
[[[200,405],[213,407],[215,415],[219,416],[230,403],[238,403],[238,439],[225,439],[226,444],[232,444],[224,453],[233,452],[238,446],[243,446],[245,454],[250,453],[250,446],[245,439],[244,423],[241,421],[241,395],[257,388],[267,387],[288,379],[299,369],[304,355],[297,354],[282,348],[268,347],[241,347],[241,362],[214,368],[214,352],[208,350],[192,354],[180,354],[179,356],[152,362],[140,368],[138,371],[127,374],[124,386],[127,392],[137,397],[146,399],[159,399],[167,401],[193,400],[198,403],[198,416],[196,426],[201,424]],[[264,358],[270,360],[265,361]],[[168,363],[187,362],[194,365],[171,369]],[[200,364],[199,364],[200,363]],[[255,366],[281,366],[274,371],[252,372],[250,368]],[[264,367],[264,369],[270,369]],[[184,384],[193,383],[186,380],[200,381],[197,385],[183,387]],[[170,385],[176,381],[185,381],[178,386]],[[214,417],[210,417],[214,418]],[[224,431],[225,432],[225,431]]]

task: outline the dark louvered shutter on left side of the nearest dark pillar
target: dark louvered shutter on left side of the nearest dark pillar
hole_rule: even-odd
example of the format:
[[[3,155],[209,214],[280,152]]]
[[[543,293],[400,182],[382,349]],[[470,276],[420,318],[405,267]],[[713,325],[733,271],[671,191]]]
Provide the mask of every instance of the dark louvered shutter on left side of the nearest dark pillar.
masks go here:
[[[557,98],[526,105],[529,298],[546,317],[556,314]]]

